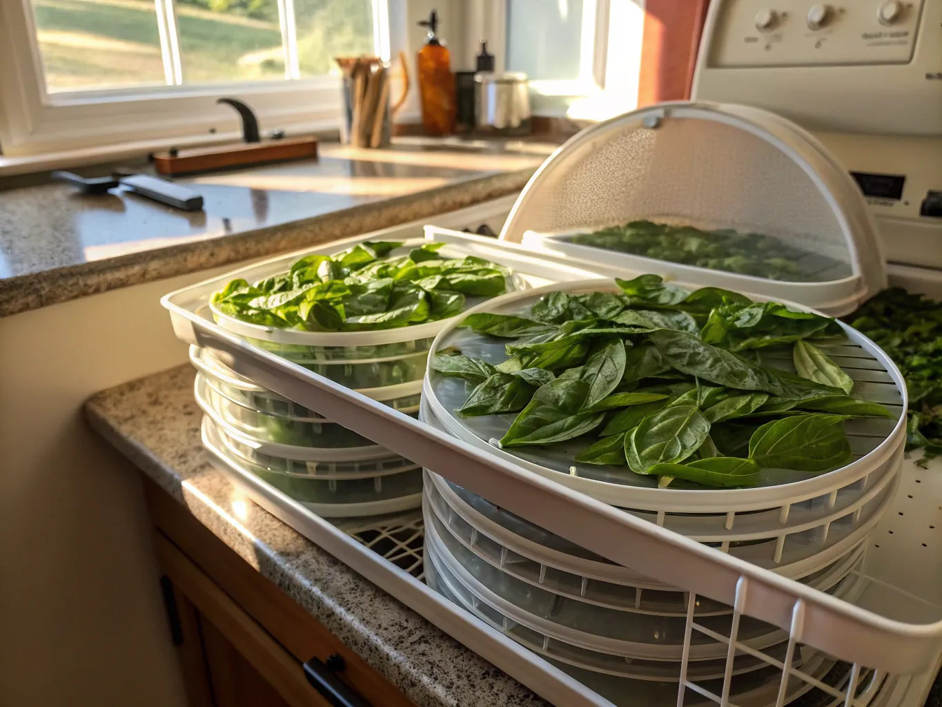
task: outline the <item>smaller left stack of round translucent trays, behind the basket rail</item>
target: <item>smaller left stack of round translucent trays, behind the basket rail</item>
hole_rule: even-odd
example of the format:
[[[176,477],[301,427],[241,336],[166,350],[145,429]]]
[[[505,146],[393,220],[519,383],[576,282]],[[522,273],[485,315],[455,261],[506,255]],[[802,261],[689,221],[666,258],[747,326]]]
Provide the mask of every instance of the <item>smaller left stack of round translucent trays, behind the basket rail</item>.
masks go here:
[[[390,236],[395,234],[358,241]],[[389,256],[409,254],[426,242],[412,238]],[[333,244],[325,250],[333,254],[342,248]],[[445,245],[436,255],[462,257],[475,250]],[[243,321],[211,297],[227,282],[265,281],[299,259],[275,258],[205,283],[201,311],[268,353],[414,417],[431,342],[447,319],[373,331],[301,331]],[[530,287],[512,268],[505,279],[507,291]],[[486,299],[468,296],[465,304]],[[194,395],[204,413],[203,445],[219,464],[253,474],[325,518],[379,516],[421,505],[422,470],[407,457],[333,422],[329,410],[309,409],[257,385],[206,348],[191,346],[190,360],[198,370]]]

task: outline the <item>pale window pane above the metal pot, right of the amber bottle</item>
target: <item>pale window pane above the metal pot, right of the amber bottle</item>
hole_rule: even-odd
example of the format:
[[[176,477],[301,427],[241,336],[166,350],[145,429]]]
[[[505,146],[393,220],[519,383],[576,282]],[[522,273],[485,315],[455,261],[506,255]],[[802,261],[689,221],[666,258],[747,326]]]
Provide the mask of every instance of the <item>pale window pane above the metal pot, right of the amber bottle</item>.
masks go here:
[[[531,80],[577,79],[582,3],[507,0],[507,68]]]

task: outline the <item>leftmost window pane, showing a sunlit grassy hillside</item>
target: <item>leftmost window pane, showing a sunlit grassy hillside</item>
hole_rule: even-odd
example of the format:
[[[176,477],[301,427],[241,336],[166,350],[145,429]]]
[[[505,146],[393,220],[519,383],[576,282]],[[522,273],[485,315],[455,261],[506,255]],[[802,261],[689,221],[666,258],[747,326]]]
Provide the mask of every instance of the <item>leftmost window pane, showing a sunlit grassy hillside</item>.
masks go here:
[[[154,0],[32,0],[50,92],[164,84]]]

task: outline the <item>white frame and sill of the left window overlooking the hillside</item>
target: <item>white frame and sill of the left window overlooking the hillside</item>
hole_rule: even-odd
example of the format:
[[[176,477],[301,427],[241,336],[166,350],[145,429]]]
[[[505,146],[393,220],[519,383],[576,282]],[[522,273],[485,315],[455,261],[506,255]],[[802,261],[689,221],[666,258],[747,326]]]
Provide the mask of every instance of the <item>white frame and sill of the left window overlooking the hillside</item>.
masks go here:
[[[373,41],[388,60],[393,42],[390,14],[403,12],[407,0],[372,0]],[[263,130],[289,133],[333,130],[340,120],[340,90],[334,76],[300,78],[297,62],[285,61],[285,79],[214,85],[182,84],[179,62],[166,57],[166,42],[176,41],[168,21],[173,0],[156,0],[165,79],[168,84],[114,90],[46,90],[36,26],[29,0],[0,2],[0,150],[2,157],[30,158],[76,150],[112,152],[121,146],[188,144],[232,140],[240,123],[216,99],[230,96],[252,107]],[[285,18],[293,0],[279,0],[285,56],[292,51],[293,28]],[[172,18],[172,12],[170,14]],[[293,14],[291,24],[293,25]],[[291,38],[289,40],[289,38]],[[175,52],[173,56],[178,57]],[[292,74],[292,64],[295,75]],[[8,69],[6,69],[8,67]]]

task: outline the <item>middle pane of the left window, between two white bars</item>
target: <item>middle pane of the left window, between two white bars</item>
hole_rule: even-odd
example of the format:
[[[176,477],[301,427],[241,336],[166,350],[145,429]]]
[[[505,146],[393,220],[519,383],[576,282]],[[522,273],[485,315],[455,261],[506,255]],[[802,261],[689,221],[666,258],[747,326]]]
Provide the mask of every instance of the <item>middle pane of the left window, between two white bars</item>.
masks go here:
[[[185,83],[284,78],[278,0],[176,0]]]

